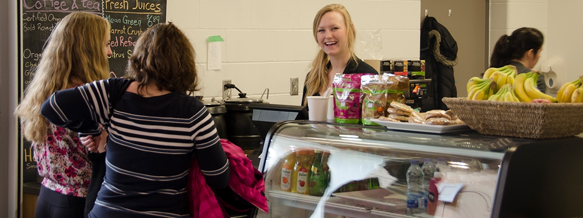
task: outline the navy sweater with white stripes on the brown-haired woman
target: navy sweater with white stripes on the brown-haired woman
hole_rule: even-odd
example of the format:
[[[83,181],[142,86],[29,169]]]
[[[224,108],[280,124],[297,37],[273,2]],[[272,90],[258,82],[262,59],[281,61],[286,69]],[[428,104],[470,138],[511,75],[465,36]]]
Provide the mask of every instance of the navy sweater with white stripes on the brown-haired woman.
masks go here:
[[[210,187],[229,181],[215,124],[198,99],[181,92],[144,98],[125,92],[131,82],[111,78],[55,92],[41,114],[86,135],[99,135],[99,123],[109,127],[106,177],[90,217],[189,217],[192,160]]]

